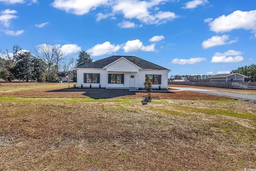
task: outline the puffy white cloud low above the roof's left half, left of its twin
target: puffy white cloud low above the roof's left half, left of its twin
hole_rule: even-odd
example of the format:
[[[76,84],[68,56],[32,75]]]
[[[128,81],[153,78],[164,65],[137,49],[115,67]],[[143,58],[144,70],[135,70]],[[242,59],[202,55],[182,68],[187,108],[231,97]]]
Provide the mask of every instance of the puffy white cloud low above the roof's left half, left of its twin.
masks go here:
[[[100,56],[105,54],[111,54],[114,52],[117,52],[121,48],[120,45],[112,45],[109,41],[104,42],[103,44],[97,44],[93,46],[92,48],[87,50],[87,53],[89,53],[92,56]]]

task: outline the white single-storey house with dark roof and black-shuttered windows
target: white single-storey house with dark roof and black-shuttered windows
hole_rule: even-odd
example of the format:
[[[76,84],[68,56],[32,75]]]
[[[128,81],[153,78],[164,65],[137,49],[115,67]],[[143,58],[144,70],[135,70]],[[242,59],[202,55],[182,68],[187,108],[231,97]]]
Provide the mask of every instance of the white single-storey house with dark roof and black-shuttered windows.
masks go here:
[[[78,66],[77,87],[143,88],[146,75],[152,87],[166,89],[169,69],[136,56],[110,56],[90,64]]]

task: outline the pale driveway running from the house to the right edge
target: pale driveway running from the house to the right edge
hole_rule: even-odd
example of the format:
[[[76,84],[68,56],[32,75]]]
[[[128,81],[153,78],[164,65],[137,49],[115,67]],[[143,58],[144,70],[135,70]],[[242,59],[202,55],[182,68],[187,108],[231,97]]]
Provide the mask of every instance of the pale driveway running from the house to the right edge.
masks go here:
[[[237,100],[247,101],[247,102],[256,104],[256,95],[249,95],[245,93],[228,92],[228,91],[218,91],[218,90],[185,88],[185,87],[171,87],[171,88],[179,89],[179,90],[172,90],[172,91],[199,91],[199,92],[206,93],[208,95],[229,97],[229,98],[234,98]]]

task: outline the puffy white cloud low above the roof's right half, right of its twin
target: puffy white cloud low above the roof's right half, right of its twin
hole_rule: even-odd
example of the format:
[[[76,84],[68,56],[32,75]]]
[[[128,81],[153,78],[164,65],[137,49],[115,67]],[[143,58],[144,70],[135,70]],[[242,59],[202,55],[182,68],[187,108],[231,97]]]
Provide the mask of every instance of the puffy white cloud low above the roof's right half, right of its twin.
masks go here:
[[[123,47],[125,53],[136,52],[138,50],[142,51],[155,51],[155,44],[144,46],[143,43],[139,40],[129,40],[125,43]]]

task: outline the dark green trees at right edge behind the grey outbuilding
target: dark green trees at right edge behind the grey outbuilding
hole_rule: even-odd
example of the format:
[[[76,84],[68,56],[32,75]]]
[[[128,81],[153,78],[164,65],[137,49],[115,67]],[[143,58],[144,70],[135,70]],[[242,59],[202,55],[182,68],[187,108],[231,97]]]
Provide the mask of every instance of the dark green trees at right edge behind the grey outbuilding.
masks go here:
[[[246,81],[256,82],[256,64],[238,67],[238,69],[232,70],[231,73],[243,74],[245,76],[248,76],[248,78],[246,78]]]

